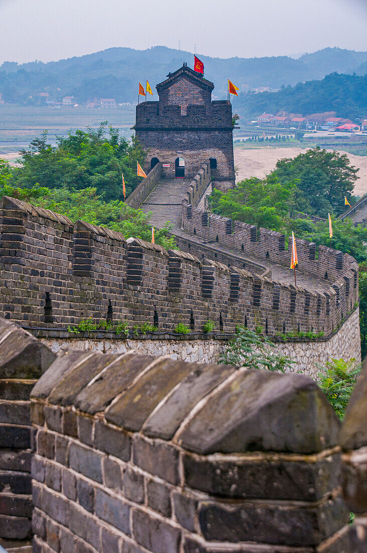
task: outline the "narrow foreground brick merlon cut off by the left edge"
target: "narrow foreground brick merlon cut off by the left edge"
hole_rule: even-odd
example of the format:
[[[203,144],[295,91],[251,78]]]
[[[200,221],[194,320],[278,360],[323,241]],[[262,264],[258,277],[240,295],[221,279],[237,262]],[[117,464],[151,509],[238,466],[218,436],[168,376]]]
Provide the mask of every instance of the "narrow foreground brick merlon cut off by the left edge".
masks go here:
[[[30,391],[55,354],[0,318],[0,538],[31,535]]]

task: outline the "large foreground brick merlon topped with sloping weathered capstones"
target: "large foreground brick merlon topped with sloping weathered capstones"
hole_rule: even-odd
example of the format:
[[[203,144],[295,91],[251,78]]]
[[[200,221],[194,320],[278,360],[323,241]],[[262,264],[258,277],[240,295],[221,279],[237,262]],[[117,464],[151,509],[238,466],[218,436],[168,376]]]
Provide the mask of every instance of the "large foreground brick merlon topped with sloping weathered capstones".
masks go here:
[[[31,395],[35,551],[311,553],[347,524],[308,377],[66,350]]]

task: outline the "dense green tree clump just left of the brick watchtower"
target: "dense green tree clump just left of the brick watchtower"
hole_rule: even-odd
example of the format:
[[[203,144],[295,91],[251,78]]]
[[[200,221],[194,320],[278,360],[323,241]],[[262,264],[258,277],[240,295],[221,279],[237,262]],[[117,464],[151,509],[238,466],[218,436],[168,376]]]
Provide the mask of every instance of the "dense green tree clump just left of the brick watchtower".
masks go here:
[[[12,170],[9,184],[77,190],[92,187],[106,201],[123,199],[121,174],[129,195],[136,187],[136,161],[142,163],[145,153],[134,137],[128,142],[113,127],[108,128],[108,135],[106,132],[107,122],[103,122],[96,131],[88,128],[58,138],[56,147],[47,142],[47,132],[42,133],[28,149],[20,150],[20,167]]]

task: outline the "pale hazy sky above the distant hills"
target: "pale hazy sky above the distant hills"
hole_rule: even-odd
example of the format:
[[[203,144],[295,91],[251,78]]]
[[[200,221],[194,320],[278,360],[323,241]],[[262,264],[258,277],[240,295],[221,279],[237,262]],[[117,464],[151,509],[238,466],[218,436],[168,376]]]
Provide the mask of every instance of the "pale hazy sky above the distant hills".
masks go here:
[[[367,50],[367,0],[0,0],[0,63],[111,46],[227,58]]]

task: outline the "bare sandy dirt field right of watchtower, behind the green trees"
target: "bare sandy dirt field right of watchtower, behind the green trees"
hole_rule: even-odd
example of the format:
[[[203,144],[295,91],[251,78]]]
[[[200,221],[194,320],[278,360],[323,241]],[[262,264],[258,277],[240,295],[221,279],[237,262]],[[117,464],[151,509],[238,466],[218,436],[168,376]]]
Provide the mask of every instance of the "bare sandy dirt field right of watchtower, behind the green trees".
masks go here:
[[[294,158],[296,155],[306,152],[301,148],[259,148],[258,150],[245,150],[235,148],[235,165],[238,168],[237,180],[257,176],[262,179],[274,169],[276,161],[282,158]],[[359,168],[359,179],[355,183],[354,194],[363,196],[367,193],[367,156],[353,155],[347,152],[350,163]]]

